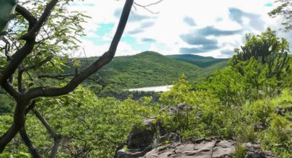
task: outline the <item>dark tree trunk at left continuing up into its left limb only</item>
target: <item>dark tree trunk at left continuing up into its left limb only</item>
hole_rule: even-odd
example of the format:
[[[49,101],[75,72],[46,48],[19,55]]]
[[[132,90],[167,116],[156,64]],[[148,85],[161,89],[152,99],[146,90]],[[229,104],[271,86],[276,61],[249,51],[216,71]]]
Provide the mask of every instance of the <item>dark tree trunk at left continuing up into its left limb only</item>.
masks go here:
[[[8,91],[12,97],[17,101],[15,110],[14,110],[14,122],[12,126],[8,129],[8,131],[0,137],[0,152],[2,152],[5,146],[15,137],[15,135],[19,132],[20,128],[23,126],[25,122],[25,108],[27,104],[30,102],[30,98],[25,98],[25,96],[21,95],[18,91],[16,91],[9,83],[8,78],[11,78],[15,73],[19,64],[23,61],[23,59],[34,49],[34,44],[36,40],[36,35],[38,31],[41,29],[47,18],[49,17],[52,9],[56,5],[58,0],[50,1],[45,7],[45,11],[41,15],[40,19],[35,23],[35,25],[28,30],[27,34],[24,36],[25,45],[21,47],[21,49],[17,50],[12,56],[11,60],[8,63],[8,66],[5,67],[3,71],[0,73],[0,84],[1,87]],[[25,14],[25,13],[23,13]],[[27,14],[26,14],[27,15]],[[20,99],[21,98],[21,99]]]

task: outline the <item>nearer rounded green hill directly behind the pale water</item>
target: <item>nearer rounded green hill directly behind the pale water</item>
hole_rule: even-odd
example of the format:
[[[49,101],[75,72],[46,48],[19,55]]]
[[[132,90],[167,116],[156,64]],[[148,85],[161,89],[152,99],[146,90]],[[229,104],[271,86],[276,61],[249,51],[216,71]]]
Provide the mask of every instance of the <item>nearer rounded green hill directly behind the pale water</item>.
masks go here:
[[[97,57],[81,58],[87,66]],[[98,71],[102,82],[114,89],[152,87],[172,84],[181,74],[194,80],[202,69],[196,65],[168,58],[156,52],[142,52],[134,56],[117,56]]]

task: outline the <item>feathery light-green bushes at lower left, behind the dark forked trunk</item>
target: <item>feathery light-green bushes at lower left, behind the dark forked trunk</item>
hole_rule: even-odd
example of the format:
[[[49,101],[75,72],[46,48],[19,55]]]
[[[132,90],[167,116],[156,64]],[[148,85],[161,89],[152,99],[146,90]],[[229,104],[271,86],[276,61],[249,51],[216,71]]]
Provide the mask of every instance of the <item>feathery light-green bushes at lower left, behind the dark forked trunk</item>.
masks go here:
[[[132,124],[152,112],[150,108],[139,106],[131,100],[120,102],[114,98],[97,98],[83,87],[69,95],[49,100],[41,98],[36,102],[36,109],[61,136],[57,157],[113,157],[115,148],[126,140]],[[1,115],[1,134],[9,127],[5,124],[11,121],[10,115]],[[43,124],[30,113],[26,126],[41,155],[48,157],[53,143]],[[20,153],[27,153],[27,148],[16,137],[7,152],[21,157]],[[7,152],[1,156],[8,155]]]

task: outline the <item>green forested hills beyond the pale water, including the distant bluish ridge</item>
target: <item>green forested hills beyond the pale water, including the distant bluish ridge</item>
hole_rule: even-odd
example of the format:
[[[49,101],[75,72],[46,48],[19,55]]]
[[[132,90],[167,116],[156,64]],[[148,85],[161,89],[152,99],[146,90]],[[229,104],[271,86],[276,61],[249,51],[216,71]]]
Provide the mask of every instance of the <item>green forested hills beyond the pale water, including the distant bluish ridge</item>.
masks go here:
[[[80,58],[82,67],[87,67],[97,58]],[[227,59],[189,54],[163,56],[156,52],[142,52],[134,56],[115,57],[93,78],[101,78],[100,81],[107,85],[104,91],[117,91],[172,84],[181,74],[186,74],[188,80],[200,80],[225,65]]]

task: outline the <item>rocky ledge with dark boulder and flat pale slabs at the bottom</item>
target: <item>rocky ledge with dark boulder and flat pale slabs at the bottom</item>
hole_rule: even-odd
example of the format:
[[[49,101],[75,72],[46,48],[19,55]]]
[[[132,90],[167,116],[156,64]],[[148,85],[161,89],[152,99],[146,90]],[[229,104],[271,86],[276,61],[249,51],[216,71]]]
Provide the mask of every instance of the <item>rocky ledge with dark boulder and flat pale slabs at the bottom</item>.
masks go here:
[[[166,158],[166,157],[197,157],[219,158],[234,157],[236,142],[218,137],[203,139],[181,139],[177,133],[166,131],[161,124],[153,123],[155,118],[143,120],[144,128],[134,126],[124,146],[120,146],[115,158]],[[244,150],[240,157],[245,158],[276,158],[269,151],[263,151],[258,144],[245,143],[240,145]]]

